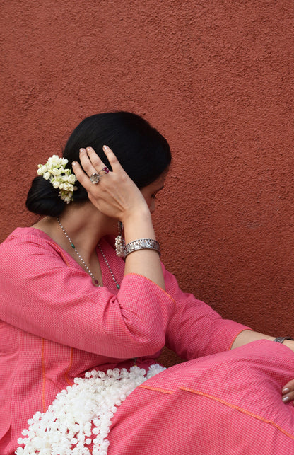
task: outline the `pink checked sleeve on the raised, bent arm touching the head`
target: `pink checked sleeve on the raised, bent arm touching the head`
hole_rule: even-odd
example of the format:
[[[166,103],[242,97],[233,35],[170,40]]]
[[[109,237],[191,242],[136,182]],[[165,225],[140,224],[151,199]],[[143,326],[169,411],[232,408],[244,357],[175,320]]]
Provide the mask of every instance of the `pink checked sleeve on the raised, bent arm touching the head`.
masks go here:
[[[94,287],[81,267],[64,263],[45,234],[14,235],[1,245],[0,289],[0,318],[11,326],[116,358],[160,350],[175,305],[140,275],[124,277],[117,295]]]

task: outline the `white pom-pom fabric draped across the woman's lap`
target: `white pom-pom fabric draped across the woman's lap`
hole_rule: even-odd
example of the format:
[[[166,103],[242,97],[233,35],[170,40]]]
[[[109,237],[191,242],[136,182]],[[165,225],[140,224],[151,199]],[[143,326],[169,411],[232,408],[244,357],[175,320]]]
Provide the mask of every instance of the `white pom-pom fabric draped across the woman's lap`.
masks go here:
[[[18,444],[17,455],[105,455],[110,442],[111,419],[119,405],[146,379],[163,372],[159,364],[146,370],[139,367],[93,370],[85,378],[58,393],[45,413],[28,420],[28,430]],[[93,442],[90,452],[87,446]]]

